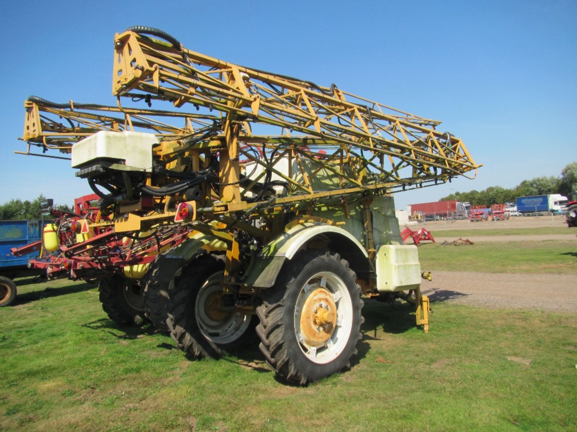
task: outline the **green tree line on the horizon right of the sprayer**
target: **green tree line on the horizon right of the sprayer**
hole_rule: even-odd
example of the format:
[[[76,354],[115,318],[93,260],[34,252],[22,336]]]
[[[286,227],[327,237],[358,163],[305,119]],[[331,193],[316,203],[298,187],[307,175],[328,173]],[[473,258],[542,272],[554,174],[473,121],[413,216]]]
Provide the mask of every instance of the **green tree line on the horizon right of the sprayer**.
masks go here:
[[[561,194],[569,199],[576,198],[577,192],[577,162],[565,166],[561,176],[535,177],[532,180],[523,180],[512,189],[500,186],[491,186],[484,191],[455,192],[444,196],[440,201],[456,199],[460,202],[470,202],[471,206],[490,206],[515,202],[518,196]]]

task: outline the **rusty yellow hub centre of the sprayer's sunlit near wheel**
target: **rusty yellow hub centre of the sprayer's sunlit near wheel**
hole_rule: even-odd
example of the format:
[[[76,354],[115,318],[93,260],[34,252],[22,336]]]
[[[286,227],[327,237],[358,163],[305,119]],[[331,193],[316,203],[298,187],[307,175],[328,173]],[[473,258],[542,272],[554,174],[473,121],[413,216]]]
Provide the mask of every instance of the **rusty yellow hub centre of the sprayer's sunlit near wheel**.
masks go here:
[[[314,290],[306,298],[301,313],[301,338],[309,347],[327,343],[336,326],[336,304],[333,294],[324,288]]]

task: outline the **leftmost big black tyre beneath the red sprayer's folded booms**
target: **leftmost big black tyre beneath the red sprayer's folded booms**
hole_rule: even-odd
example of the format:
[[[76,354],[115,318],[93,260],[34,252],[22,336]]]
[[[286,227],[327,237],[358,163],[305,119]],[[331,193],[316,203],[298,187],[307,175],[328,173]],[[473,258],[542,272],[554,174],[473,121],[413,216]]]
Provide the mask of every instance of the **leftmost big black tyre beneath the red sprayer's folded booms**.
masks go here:
[[[102,279],[98,287],[102,309],[117,324],[142,325],[144,316],[144,298],[141,286],[121,276]]]

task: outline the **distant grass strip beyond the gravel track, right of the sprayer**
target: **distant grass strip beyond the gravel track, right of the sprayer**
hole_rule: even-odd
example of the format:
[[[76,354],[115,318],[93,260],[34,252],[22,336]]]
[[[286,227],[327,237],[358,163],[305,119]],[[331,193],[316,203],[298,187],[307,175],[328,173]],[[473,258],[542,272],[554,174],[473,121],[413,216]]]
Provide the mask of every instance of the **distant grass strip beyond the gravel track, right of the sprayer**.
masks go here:
[[[424,243],[419,245],[419,261],[428,270],[577,274],[577,242],[477,242],[468,246]]]

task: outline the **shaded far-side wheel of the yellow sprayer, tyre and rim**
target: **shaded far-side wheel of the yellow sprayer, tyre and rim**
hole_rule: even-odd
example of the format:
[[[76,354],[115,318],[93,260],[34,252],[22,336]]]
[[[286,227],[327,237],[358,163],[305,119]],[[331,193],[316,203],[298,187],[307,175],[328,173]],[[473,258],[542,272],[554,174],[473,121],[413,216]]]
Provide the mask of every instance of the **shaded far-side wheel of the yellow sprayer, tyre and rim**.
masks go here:
[[[219,357],[250,344],[257,319],[240,309],[223,309],[224,255],[203,255],[170,286],[168,327],[188,357]]]

